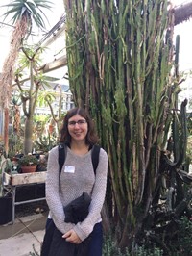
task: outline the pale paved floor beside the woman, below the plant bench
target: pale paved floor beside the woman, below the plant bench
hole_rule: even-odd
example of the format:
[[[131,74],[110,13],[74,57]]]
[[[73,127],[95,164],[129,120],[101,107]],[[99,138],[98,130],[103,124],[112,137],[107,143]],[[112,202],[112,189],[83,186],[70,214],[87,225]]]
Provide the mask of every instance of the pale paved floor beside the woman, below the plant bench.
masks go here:
[[[40,252],[47,213],[16,218],[0,226],[0,256],[29,256]]]

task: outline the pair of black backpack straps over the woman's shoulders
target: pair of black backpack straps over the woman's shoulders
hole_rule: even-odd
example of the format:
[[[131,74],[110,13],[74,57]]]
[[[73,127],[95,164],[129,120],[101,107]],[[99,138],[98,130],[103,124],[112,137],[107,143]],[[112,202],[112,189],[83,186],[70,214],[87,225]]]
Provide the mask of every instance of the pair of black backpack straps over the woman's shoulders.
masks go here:
[[[99,163],[99,153],[100,153],[100,146],[99,145],[93,145],[91,149],[91,159],[92,159],[92,165],[94,169],[94,173],[96,173],[96,169]],[[60,144],[59,145],[59,166],[60,166],[60,172],[62,169],[62,166],[64,165],[65,159],[66,159],[66,145]]]

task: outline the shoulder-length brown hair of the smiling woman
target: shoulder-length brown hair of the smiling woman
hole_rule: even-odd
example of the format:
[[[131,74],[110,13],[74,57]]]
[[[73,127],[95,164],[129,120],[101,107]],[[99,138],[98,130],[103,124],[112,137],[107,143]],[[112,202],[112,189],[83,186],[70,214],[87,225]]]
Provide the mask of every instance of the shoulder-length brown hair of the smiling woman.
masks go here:
[[[88,132],[85,138],[85,143],[87,145],[94,145],[98,143],[99,139],[95,131],[93,120],[90,118],[87,112],[84,111],[82,108],[74,108],[67,112],[64,116],[63,125],[60,130],[60,142],[61,143],[68,143],[71,142],[71,136],[68,132],[68,120],[74,115],[81,115],[87,122],[88,125]]]

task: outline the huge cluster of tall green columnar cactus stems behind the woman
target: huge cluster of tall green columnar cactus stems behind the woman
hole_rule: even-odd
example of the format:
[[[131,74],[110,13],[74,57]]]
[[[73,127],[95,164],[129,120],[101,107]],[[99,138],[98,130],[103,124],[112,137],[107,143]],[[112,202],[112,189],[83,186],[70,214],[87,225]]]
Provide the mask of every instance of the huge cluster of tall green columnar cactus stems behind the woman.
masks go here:
[[[108,151],[111,215],[125,246],[153,201],[174,108],[173,13],[166,0],[64,3],[70,87]]]

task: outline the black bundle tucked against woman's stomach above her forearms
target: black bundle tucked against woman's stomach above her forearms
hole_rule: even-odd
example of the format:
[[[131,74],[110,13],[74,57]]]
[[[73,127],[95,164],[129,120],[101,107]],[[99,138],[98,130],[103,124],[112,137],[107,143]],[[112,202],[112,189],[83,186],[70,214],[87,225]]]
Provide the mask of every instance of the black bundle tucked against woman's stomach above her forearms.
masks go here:
[[[84,218],[88,215],[88,207],[90,205],[91,198],[87,192],[83,192],[83,194],[71,201],[64,207],[65,218],[64,221],[66,223],[74,223],[82,222]]]

